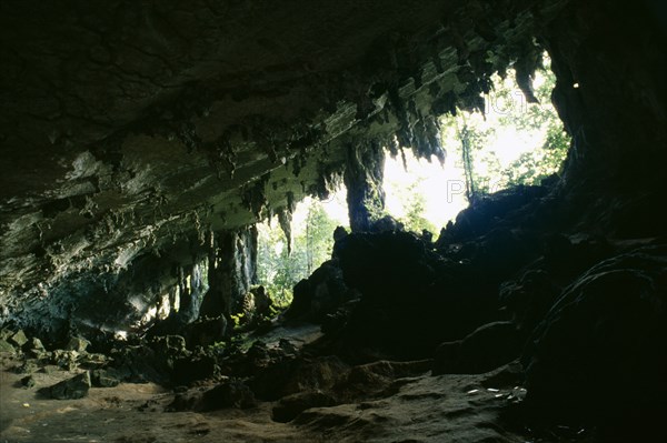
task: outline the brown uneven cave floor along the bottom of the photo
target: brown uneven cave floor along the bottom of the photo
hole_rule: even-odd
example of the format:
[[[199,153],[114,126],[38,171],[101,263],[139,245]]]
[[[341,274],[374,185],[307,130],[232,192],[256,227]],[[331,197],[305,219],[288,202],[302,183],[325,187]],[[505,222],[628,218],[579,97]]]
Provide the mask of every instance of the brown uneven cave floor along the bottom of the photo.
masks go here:
[[[249,410],[166,412],[173,393],[156,384],[121,383],[80,400],[42,400],[1,374],[1,442],[527,442],[499,421],[512,387],[491,387],[497,373],[397,380],[387,397],[313,407],[290,423],[271,420],[271,402]],[[53,368],[37,385],[72,375]],[[198,386],[191,389],[208,389]],[[545,441],[545,440],[531,440]]]

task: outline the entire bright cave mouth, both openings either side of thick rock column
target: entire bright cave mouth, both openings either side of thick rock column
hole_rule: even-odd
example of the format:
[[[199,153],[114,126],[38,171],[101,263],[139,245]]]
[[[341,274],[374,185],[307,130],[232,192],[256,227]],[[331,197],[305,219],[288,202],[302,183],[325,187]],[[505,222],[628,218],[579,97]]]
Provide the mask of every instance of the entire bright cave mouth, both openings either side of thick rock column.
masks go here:
[[[558,179],[571,140],[551,103],[556,75],[549,56],[542,54],[528,91],[519,88],[512,68],[490,80],[482,109],[439,118],[442,161],[418,158],[411,147],[396,155],[384,149],[384,202],[376,219],[396,221],[386,228],[436,240],[471,203]],[[331,259],[335,229],[349,230],[346,193],[338,183],[326,199],[306,197],[296,203],[289,225],[278,215],[258,224],[258,282],[278,305],[289,304],[293,286]]]

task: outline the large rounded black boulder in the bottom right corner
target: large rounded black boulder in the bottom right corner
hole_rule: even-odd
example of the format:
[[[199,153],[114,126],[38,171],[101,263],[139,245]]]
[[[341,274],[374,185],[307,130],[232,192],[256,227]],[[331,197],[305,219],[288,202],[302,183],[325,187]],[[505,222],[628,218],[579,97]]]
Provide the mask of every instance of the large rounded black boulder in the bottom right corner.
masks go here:
[[[565,291],[524,354],[529,409],[551,421],[653,429],[667,406],[666,306],[666,246],[591,268]]]

